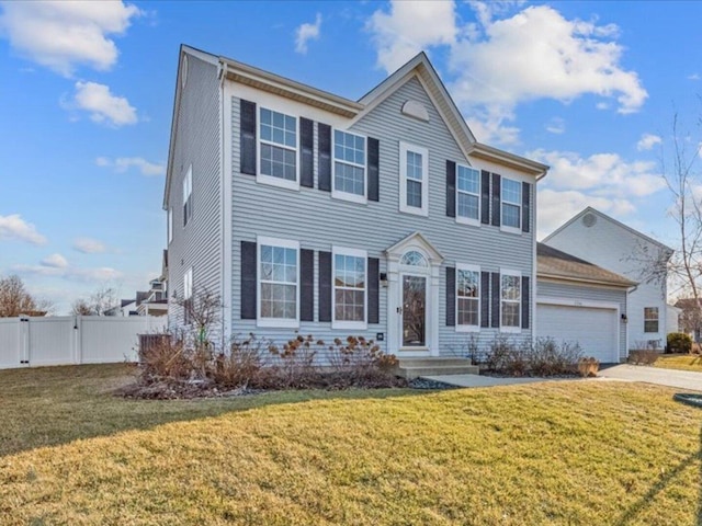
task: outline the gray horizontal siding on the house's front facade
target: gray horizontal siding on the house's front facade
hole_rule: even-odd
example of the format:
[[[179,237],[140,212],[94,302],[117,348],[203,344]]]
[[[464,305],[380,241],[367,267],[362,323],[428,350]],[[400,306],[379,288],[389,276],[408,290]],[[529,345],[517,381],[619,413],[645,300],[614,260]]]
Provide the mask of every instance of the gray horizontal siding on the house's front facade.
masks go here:
[[[236,85],[235,85],[236,91]],[[424,123],[400,113],[407,100],[421,102],[429,111]],[[298,192],[257,184],[256,178],[239,173],[239,99],[231,101],[231,176],[233,176],[233,332],[271,338],[290,336],[291,330],[257,329],[254,320],[240,320],[240,241],[256,241],[256,236],[270,236],[301,242],[302,248],[330,251],[332,244],[367,250],[369,256],[381,259],[381,272],[386,272],[384,251],[414,231],[420,231],[444,256],[445,265],[456,263],[479,265],[483,271],[498,272],[500,267],[521,271],[532,276],[534,243],[534,206],[532,191],[532,229],[530,233],[510,235],[498,227],[471,227],[446,217],[445,163],[446,160],[468,162],[462,155],[449,129],[423,88],[416,79],[408,81],[387,100],[350,128],[352,132],[380,139],[380,202],[367,205],[333,199],[329,192],[302,187]],[[304,115],[303,115],[304,116]],[[399,203],[399,141],[429,149],[429,216],[401,214]],[[315,133],[315,159],[317,134]],[[468,162],[476,168],[479,163]],[[495,170],[492,170],[495,171]],[[315,259],[317,286],[317,258]],[[532,285],[533,289],[533,285]],[[315,290],[317,298],[318,291]],[[366,338],[377,332],[387,334],[387,289],[381,288],[380,323],[370,324]],[[533,305],[533,302],[532,302]],[[441,353],[460,353],[468,340],[466,333],[456,333],[445,327],[445,273],[442,268],[439,327]],[[315,307],[315,319],[318,312]],[[533,320],[533,311],[531,312]],[[495,329],[483,329],[484,344],[496,335]],[[351,331],[332,331],[330,323],[303,322],[299,332],[330,340],[346,336]],[[356,333],[358,331],[353,331]],[[531,330],[512,335],[517,340],[531,338]],[[390,350],[393,351],[393,350]]]

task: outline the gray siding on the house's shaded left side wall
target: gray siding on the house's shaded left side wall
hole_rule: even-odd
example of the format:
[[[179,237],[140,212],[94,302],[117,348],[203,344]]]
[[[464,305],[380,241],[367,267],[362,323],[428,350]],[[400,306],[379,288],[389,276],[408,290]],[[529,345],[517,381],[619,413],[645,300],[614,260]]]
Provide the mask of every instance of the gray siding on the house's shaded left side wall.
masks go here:
[[[193,56],[188,56],[188,81],[177,101],[176,135],[171,145],[173,160],[168,196],[173,210],[168,268],[171,297],[173,293],[182,297],[183,276],[191,266],[195,294],[203,288],[222,294],[222,140],[217,68]],[[183,227],[183,178],[191,164],[193,214]],[[182,309],[169,302],[169,325],[174,328],[182,322]]]

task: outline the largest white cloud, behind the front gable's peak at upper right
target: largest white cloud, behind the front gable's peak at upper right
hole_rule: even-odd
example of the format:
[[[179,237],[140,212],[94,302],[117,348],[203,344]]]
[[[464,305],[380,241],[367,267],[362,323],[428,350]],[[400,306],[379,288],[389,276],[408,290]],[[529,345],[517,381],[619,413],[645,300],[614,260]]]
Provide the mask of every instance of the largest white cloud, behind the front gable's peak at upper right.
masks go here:
[[[567,20],[547,5],[469,2],[477,22],[461,23],[454,2],[393,1],[366,23],[377,62],[388,72],[421,49],[444,47],[450,91],[479,140],[514,144],[517,105],[541,99],[565,104],[586,94],[614,100],[619,113],[648,96],[635,71],[621,66],[614,24]],[[596,102],[603,108],[602,101]]]

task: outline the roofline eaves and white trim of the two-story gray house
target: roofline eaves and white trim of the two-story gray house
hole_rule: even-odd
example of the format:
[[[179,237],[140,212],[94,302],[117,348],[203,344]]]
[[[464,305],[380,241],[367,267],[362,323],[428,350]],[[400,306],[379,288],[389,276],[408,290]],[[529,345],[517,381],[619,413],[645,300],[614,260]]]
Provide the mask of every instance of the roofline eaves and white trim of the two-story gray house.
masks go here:
[[[449,94],[443,82],[439,78],[437,70],[429,61],[427,54],[423,52],[411,58],[397,71],[392,73],[384,81],[363,95],[359,101],[352,101],[350,99],[329,93],[328,91],[319,90],[312,85],[249,66],[248,64],[239,62],[223,56],[215,56],[182,44],[180,46],[178,59],[176,94],[173,98],[173,115],[171,121],[171,137],[168,169],[166,173],[167,181],[163,194],[163,209],[168,207],[168,193],[170,188],[171,173],[170,168],[172,161],[171,150],[178,128],[178,105],[180,101],[182,75],[181,65],[183,56],[185,55],[191,55],[201,60],[207,61],[213,66],[217,66],[220,76],[226,79],[251,85],[269,93],[285,96],[310,106],[319,107],[351,119],[361,118],[365,113],[397,91],[409,79],[417,77],[439,110],[439,113],[466,158],[468,156],[474,156],[487,161],[506,164],[521,172],[534,175],[536,180],[543,178],[548,171],[548,167],[546,164],[478,142],[468,128],[465,118],[453,102],[453,99]]]

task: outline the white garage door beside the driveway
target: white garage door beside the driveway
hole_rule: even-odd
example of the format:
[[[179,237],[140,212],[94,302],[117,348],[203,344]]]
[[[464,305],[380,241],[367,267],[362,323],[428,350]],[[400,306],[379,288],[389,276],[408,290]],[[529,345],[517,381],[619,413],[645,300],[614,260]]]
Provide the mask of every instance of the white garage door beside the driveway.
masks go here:
[[[615,309],[536,305],[536,332],[557,342],[578,342],[585,356],[600,363],[619,362],[619,320]]]

